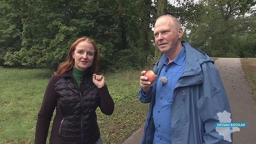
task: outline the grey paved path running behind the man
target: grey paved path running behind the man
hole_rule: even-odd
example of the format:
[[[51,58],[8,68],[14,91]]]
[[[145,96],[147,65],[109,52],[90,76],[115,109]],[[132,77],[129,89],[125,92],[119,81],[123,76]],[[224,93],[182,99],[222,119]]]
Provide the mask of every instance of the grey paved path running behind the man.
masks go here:
[[[246,122],[247,128],[233,133],[233,144],[256,144],[256,102],[244,77],[239,58],[219,58],[215,62],[228,95],[233,122]],[[122,144],[140,144],[143,125]]]

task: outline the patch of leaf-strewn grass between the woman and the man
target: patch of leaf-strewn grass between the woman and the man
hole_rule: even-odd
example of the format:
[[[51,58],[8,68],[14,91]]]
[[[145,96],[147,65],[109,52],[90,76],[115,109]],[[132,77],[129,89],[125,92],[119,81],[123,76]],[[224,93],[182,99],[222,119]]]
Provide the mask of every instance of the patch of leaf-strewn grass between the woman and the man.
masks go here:
[[[97,111],[98,124],[105,144],[120,144],[144,123],[148,104],[138,100],[140,71],[107,74],[106,84],[115,101],[112,116]]]

